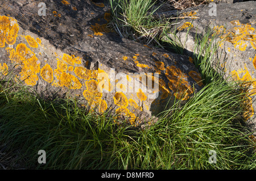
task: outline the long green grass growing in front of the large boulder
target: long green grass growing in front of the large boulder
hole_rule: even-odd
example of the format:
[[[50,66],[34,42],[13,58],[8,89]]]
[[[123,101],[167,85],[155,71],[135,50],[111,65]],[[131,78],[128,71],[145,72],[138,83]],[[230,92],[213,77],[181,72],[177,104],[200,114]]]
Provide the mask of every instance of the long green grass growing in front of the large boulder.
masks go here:
[[[74,99],[42,100],[11,79],[0,82],[0,146],[18,149],[27,169],[255,169],[256,143],[244,117],[247,87],[213,69],[218,43],[208,41],[211,35],[196,40],[193,56],[205,87],[147,129],[115,124],[110,113],[88,112]],[[46,164],[38,163],[39,150]],[[210,150],[216,163],[209,163]]]

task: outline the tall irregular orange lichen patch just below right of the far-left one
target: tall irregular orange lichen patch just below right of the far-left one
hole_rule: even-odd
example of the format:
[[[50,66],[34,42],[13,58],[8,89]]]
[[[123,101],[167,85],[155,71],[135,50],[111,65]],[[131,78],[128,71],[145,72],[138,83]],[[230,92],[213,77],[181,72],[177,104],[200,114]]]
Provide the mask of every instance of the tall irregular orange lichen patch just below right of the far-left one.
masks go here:
[[[38,73],[40,72],[40,63],[36,58],[35,53],[32,52],[25,44],[18,44],[16,51],[13,48],[6,48],[10,53],[11,62],[21,66],[20,79],[29,86],[36,85],[38,81]]]

